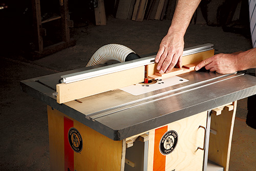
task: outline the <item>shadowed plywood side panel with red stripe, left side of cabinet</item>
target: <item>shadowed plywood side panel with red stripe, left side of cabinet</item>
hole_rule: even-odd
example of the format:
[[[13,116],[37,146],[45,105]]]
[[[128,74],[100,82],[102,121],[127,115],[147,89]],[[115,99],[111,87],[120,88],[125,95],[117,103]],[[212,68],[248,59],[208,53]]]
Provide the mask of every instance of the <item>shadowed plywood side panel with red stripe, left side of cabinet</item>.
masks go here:
[[[113,141],[67,115],[52,110],[50,106],[48,106],[48,120],[51,170],[123,171],[125,140]],[[65,120],[69,120],[72,124],[67,125]],[[69,144],[67,130],[73,128],[81,137],[81,141],[78,142],[79,144],[82,142],[80,152],[75,152]]]

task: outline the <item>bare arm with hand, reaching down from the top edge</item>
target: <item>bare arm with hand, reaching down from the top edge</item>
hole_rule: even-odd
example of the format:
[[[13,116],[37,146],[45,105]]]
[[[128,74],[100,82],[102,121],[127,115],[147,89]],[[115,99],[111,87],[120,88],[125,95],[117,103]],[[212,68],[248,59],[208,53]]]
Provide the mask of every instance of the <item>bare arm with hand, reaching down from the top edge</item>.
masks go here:
[[[172,24],[161,41],[155,61],[159,73],[170,72],[175,65],[181,68],[184,35],[201,0],[179,0]]]

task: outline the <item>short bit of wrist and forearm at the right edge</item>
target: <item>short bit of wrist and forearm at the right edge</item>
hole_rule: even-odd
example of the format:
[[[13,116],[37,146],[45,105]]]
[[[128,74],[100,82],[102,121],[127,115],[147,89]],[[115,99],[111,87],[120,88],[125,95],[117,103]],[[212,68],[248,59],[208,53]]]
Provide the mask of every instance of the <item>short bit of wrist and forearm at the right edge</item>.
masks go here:
[[[238,54],[237,71],[256,68],[256,48]]]

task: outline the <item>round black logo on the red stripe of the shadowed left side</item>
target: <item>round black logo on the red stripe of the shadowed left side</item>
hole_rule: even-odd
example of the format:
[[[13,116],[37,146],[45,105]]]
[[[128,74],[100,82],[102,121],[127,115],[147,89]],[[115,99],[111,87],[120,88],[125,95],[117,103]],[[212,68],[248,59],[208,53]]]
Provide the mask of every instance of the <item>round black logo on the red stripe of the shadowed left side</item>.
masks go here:
[[[74,127],[69,129],[69,144],[75,152],[82,151],[82,136]]]

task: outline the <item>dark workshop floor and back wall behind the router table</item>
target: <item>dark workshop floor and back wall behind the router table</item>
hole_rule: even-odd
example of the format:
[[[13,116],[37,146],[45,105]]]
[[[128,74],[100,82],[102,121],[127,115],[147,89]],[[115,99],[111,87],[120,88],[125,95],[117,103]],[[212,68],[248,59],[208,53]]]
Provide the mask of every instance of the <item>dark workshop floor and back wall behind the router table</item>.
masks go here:
[[[85,67],[106,44],[139,55],[156,53],[175,0],[0,0],[0,170],[49,170],[46,104],[20,91],[19,81]],[[215,53],[252,48],[247,0],[202,0],[185,48],[211,43]],[[254,74],[254,70],[244,71]],[[256,170],[256,130],[238,101],[229,170]]]

